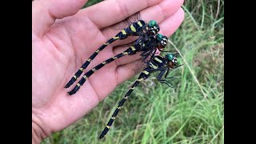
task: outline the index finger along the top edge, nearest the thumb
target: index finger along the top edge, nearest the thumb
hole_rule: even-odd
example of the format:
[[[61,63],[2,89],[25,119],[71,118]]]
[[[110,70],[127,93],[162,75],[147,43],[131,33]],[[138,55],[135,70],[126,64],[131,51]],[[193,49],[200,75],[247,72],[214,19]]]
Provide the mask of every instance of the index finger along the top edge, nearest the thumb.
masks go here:
[[[137,11],[154,6],[162,0],[108,0],[99,2],[85,10],[81,10],[82,16],[86,14],[99,28],[120,22]],[[80,13],[80,12],[79,12]]]

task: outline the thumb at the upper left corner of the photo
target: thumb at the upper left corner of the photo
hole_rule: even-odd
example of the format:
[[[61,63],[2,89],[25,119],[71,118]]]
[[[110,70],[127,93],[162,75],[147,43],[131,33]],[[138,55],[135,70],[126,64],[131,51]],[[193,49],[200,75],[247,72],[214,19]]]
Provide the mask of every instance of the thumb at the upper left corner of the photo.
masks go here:
[[[32,31],[39,38],[61,19],[78,13],[87,0],[36,0],[32,2]]]

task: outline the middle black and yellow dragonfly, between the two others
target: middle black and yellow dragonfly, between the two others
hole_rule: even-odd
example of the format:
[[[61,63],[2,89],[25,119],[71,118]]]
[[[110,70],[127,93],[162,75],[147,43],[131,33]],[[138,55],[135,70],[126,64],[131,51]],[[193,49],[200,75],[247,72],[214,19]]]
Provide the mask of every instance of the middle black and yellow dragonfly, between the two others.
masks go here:
[[[124,52],[115,55],[113,58],[109,58],[106,61],[98,64],[93,69],[89,70],[86,74],[83,75],[81,80],[78,82],[76,86],[74,86],[73,90],[70,90],[68,94],[72,95],[75,94],[80,87],[86,82],[86,79],[89,78],[95,71],[101,69],[106,64],[113,62],[115,59],[122,58],[125,55],[133,55],[136,54],[138,51],[142,51],[142,60],[146,62],[146,58],[150,56],[152,58],[156,53],[157,49],[162,50],[166,46],[167,37],[162,36],[162,34],[157,34],[155,37],[154,35],[146,35],[144,38],[138,39],[134,45],[130,46]]]

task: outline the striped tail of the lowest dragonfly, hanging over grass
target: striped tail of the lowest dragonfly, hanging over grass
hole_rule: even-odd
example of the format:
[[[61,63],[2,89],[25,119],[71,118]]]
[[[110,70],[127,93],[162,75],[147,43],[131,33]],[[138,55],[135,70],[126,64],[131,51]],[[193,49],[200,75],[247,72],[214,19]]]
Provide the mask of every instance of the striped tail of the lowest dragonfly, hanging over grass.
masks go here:
[[[126,102],[127,98],[130,96],[130,94],[134,90],[134,88],[136,86],[138,86],[139,82],[141,82],[142,80],[144,80],[150,76],[150,71],[147,71],[147,70],[150,70],[150,69],[146,68],[145,70],[142,71],[142,73],[139,75],[138,79],[134,82],[133,86],[131,86],[130,90],[128,90],[128,92],[126,93],[125,97],[122,98],[122,100],[119,102],[118,107],[116,108],[116,110],[114,110],[114,114],[112,114],[109,122],[107,122],[105,129],[102,131],[102,134],[99,136],[99,139],[104,138],[104,136],[110,130],[110,127],[112,126],[115,118],[117,117],[118,112],[122,109],[123,104]]]

